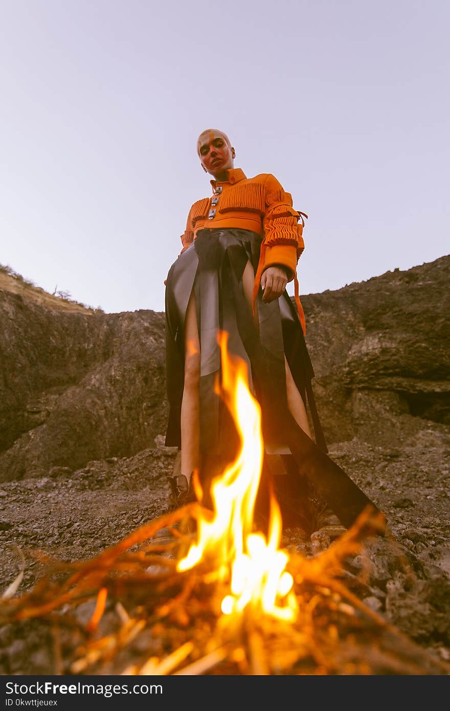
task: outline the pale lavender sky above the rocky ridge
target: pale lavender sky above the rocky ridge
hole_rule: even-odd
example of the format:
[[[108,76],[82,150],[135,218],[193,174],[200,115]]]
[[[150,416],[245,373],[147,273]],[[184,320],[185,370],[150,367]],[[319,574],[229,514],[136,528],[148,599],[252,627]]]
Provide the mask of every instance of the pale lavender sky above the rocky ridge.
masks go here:
[[[0,0],[0,263],[164,311],[208,127],[309,215],[301,294],[448,254],[449,21],[448,0]]]

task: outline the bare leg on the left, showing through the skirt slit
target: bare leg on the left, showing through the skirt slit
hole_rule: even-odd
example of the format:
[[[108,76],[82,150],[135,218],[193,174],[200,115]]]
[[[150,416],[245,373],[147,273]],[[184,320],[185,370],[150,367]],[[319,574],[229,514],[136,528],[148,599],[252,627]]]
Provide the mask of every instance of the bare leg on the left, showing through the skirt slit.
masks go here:
[[[200,459],[200,341],[194,292],[186,310],[184,331],[184,389],[181,400],[181,474],[189,481]]]

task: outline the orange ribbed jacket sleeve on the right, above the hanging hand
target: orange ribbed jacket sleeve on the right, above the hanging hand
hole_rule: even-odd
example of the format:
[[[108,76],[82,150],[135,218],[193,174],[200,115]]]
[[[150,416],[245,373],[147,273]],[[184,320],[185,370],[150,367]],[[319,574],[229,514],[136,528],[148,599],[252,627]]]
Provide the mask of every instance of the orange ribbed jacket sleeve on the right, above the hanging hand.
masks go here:
[[[266,181],[266,211],[263,219],[264,262],[261,272],[273,264],[289,269],[288,281],[296,274],[296,265],[304,250],[303,218],[292,207],[292,198],[272,175]]]

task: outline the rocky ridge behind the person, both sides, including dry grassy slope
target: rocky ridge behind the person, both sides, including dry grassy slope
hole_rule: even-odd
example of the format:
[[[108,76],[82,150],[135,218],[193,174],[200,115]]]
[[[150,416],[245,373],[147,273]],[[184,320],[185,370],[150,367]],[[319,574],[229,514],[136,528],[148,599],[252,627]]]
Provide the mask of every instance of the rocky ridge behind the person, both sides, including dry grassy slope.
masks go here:
[[[450,422],[449,270],[441,257],[302,297],[328,442],[399,446]],[[0,284],[0,481],[151,447],[168,414],[164,314],[32,296]]]

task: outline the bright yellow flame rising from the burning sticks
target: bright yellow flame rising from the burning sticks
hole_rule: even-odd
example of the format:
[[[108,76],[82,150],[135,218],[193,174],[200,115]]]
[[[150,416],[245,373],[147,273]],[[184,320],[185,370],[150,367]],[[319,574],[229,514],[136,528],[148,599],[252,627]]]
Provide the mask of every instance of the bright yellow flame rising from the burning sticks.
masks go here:
[[[214,515],[198,520],[197,541],[178,562],[179,571],[200,561],[212,560],[221,582],[230,582],[230,594],[222,601],[223,614],[241,614],[247,606],[293,620],[297,602],[293,579],[286,572],[289,556],[279,550],[282,518],[272,496],[269,533],[253,532],[255,501],[261,478],[263,441],[261,408],[248,387],[247,365],[227,353],[228,334],[221,331],[222,385],[218,388],[240,436],[240,451],[224,473],[213,480]]]

